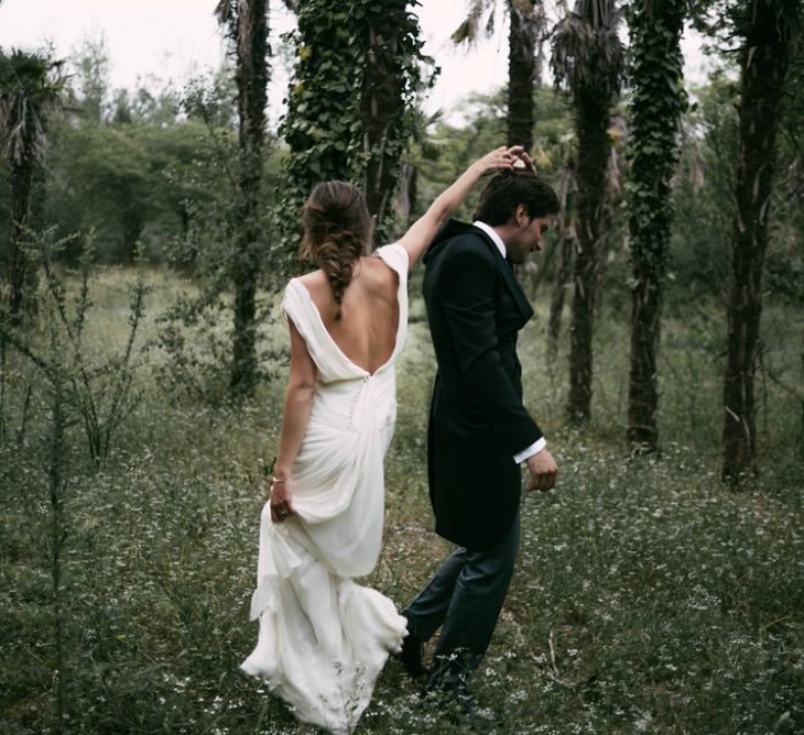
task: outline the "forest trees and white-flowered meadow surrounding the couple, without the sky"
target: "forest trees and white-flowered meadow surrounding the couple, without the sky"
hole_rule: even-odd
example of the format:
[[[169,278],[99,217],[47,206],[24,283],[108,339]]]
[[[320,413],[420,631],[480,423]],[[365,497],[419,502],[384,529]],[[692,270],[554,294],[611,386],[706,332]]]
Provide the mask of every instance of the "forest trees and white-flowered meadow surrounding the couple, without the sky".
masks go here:
[[[273,50],[264,1],[210,7],[231,53],[182,89],[111,88],[101,39],[0,53],[4,732],[293,732],[237,663],[286,375],[278,296],[309,266],[297,212],[351,179],[388,241],[504,143],[561,194],[518,274],[525,402],[561,480],[524,500],[478,696],[509,733],[797,731],[801,3],[468,2],[456,43],[503,22],[509,68],[459,125],[422,112],[437,59],[408,3],[286,4]],[[684,24],[711,58],[688,91]],[[446,551],[419,278],[369,580],[400,605]],[[460,728],[391,662],[358,732]]]

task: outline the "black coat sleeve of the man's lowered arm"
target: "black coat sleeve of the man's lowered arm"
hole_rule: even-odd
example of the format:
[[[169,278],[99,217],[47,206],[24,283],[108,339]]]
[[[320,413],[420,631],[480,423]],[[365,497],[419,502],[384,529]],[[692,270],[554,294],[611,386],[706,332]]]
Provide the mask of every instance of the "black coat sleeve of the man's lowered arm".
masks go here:
[[[542,439],[542,431],[502,366],[495,314],[497,264],[474,237],[450,243],[443,257],[437,298],[465,388],[513,458]]]

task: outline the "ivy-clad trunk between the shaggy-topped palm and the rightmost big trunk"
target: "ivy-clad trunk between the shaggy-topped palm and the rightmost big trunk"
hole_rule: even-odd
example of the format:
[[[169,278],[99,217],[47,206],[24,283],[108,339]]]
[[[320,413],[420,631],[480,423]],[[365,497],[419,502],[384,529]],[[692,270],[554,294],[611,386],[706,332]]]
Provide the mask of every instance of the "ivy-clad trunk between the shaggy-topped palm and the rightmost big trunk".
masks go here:
[[[670,229],[671,179],[678,157],[682,87],[681,33],[686,0],[635,0],[631,36],[629,232],[634,285],[628,439],[654,451],[659,441],[656,351]]]

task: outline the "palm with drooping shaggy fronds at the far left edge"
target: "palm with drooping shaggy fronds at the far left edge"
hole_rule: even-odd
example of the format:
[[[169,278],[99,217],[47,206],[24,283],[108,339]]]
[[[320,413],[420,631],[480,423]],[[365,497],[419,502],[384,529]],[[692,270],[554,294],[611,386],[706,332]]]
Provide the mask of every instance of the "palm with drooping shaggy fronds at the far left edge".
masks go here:
[[[63,81],[54,70],[63,62],[47,51],[0,50],[0,143],[9,166],[11,183],[11,262],[8,282],[11,316],[22,312],[28,262],[25,231],[30,226],[31,199],[35,175],[44,157],[47,111],[56,103]]]

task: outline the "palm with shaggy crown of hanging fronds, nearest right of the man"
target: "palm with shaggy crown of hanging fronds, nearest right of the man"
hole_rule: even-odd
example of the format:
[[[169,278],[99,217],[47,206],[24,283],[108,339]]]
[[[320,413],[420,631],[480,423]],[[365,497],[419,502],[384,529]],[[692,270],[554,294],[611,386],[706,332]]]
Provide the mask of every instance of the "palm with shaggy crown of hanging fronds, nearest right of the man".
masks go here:
[[[567,406],[568,417],[575,423],[591,415],[591,336],[596,281],[606,238],[609,118],[623,68],[620,15],[613,0],[577,0],[575,10],[556,25],[551,59],[556,85],[564,85],[572,94],[578,141]]]

